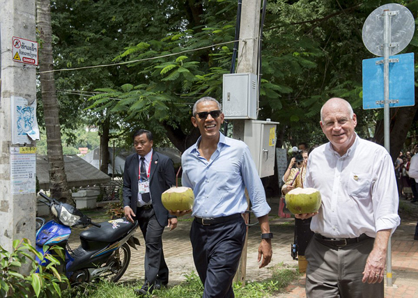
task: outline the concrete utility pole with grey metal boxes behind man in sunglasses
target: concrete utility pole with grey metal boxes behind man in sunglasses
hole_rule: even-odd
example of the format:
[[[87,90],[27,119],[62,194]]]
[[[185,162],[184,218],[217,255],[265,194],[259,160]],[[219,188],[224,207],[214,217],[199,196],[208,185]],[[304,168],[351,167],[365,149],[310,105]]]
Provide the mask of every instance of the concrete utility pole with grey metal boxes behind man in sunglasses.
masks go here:
[[[240,44],[238,47],[238,67],[237,73],[251,72],[257,73],[258,63],[258,35],[260,32],[260,9],[261,0],[242,1],[241,24],[240,24]],[[245,120],[233,120],[233,138],[244,140]],[[247,202],[249,198],[247,196]],[[248,228],[247,228],[248,230]],[[242,249],[240,265],[234,281],[245,283],[247,270],[247,238]]]

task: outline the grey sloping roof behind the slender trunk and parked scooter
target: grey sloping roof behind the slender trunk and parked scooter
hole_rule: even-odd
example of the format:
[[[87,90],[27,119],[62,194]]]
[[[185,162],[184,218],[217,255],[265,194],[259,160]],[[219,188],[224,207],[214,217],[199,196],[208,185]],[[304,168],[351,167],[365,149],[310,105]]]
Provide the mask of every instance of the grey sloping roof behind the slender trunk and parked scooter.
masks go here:
[[[86,187],[109,182],[111,178],[77,155],[64,155],[68,187]],[[47,155],[36,155],[36,176],[41,189],[49,189]]]

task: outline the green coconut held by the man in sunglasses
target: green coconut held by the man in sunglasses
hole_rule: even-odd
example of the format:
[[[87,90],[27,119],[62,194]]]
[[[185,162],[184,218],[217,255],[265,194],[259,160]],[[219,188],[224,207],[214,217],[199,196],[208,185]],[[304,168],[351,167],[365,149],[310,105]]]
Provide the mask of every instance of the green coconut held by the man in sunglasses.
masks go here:
[[[189,187],[171,187],[162,193],[161,201],[167,210],[190,210],[193,207],[194,193]]]

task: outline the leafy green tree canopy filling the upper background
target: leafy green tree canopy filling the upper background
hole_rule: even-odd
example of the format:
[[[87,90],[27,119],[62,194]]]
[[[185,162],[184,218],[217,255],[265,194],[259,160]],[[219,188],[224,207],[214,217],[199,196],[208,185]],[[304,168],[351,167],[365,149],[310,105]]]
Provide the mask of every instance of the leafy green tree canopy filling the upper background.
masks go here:
[[[326,141],[319,111],[334,96],[353,105],[360,136],[375,135],[375,128],[380,136],[382,110],[361,109],[362,59],[373,57],[363,45],[362,26],[374,9],[393,2],[417,17],[418,1],[268,1],[258,118],[281,123],[279,145]],[[109,127],[124,136],[147,127],[185,150],[199,134],[189,121],[192,104],[205,95],[222,100],[236,14],[236,0],[53,1],[56,68],[137,61],[57,72],[61,117],[68,122],[91,116],[98,125],[109,119]],[[415,36],[403,52],[415,52],[417,45]],[[391,111],[397,151],[415,111]]]

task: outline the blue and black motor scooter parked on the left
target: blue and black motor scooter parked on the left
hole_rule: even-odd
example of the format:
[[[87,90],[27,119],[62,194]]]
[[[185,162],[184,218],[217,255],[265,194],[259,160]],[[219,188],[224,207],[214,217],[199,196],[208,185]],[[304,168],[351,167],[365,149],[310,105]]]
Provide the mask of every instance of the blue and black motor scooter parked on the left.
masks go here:
[[[113,282],[121,279],[130,262],[129,246],[137,249],[135,244],[139,245],[139,240],[134,237],[139,226],[138,221],[132,224],[123,217],[96,224],[72,205],[49,198],[42,193],[40,196],[47,200],[54,219],[39,225],[36,250],[43,255],[47,253],[42,249],[45,245],[63,247],[65,260],[57,269],[65,272],[71,284],[89,283],[95,279]],[[75,250],[70,249],[68,238],[71,228],[88,225],[93,227],[80,233],[81,244]]]

